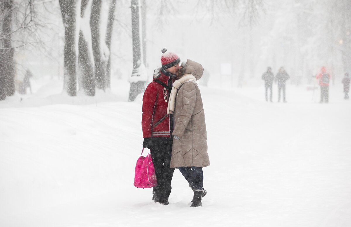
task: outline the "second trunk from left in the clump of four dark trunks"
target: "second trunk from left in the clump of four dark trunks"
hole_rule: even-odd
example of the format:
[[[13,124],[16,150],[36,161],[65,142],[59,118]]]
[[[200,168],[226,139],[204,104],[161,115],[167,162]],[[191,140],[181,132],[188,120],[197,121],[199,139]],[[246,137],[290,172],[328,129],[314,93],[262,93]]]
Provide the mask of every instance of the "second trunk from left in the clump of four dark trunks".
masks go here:
[[[84,17],[89,0],[82,0],[80,17]],[[85,94],[94,96],[95,95],[95,81],[94,81],[94,68],[90,58],[90,52],[88,49],[87,39],[84,36],[82,30],[79,32],[78,41],[78,67],[80,72],[80,84]]]

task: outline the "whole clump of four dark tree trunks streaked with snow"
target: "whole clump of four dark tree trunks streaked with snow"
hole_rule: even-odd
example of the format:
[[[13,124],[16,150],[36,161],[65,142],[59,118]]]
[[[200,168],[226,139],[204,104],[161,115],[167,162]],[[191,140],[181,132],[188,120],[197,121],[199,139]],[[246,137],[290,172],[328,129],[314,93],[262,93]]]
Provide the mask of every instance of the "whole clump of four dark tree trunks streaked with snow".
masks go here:
[[[107,5],[108,14],[101,13]],[[116,0],[60,1],[62,17],[65,18],[64,67],[65,78],[68,78],[65,80],[65,85],[69,85],[65,86],[68,94],[73,96],[77,93],[75,91],[76,72],[79,75],[79,87],[87,95],[95,95],[95,87],[105,91],[110,86],[110,49],[115,5]],[[76,11],[80,13],[73,13]],[[69,13],[72,15],[69,16]],[[75,21],[77,21],[76,24]],[[80,27],[77,38],[74,29],[78,30],[78,26]],[[78,46],[76,40],[78,40]],[[66,47],[69,47],[69,50],[66,50]],[[75,53],[76,49],[78,49],[78,55]],[[66,59],[70,61],[66,62]],[[78,62],[78,68],[75,62]]]

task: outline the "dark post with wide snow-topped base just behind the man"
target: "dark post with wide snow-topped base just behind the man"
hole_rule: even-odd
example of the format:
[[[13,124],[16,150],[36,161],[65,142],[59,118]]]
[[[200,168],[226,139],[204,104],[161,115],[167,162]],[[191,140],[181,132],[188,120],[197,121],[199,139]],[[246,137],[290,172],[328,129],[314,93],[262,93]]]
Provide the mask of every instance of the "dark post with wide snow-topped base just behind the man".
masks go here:
[[[132,9],[132,42],[133,42],[133,72],[132,82],[129,90],[128,101],[134,101],[138,94],[145,91],[145,81],[140,81],[138,78],[140,75],[140,66],[144,65],[141,62],[141,44],[140,44],[140,33],[139,33],[139,0],[131,0]]]

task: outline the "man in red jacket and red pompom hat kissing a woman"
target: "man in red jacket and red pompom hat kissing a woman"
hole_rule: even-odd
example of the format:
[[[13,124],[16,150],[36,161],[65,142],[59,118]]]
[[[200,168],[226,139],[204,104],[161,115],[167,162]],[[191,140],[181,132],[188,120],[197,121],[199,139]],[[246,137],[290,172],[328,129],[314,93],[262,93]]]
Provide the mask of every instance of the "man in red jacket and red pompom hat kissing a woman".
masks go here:
[[[162,49],[162,67],[154,72],[152,82],[146,87],[143,96],[143,146],[151,151],[158,186],[152,197],[155,202],[168,205],[174,169],[170,168],[173,143],[173,115],[167,114],[172,84],[180,69],[177,54]]]

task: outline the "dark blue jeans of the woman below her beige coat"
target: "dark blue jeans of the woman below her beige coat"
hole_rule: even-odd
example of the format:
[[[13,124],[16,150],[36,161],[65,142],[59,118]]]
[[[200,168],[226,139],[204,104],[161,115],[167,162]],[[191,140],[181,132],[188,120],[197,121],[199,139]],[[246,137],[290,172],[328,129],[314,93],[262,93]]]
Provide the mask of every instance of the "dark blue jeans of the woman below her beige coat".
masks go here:
[[[179,171],[193,189],[202,189],[204,186],[204,173],[202,167],[179,167]]]

